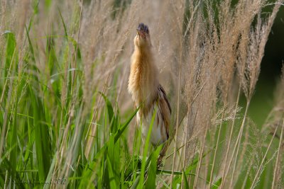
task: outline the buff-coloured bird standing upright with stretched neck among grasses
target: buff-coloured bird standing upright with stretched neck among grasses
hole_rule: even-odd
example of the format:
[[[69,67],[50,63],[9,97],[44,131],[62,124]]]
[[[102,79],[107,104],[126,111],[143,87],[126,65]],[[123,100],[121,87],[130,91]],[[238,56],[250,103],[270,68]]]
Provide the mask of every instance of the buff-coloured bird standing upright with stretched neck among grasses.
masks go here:
[[[158,164],[160,164],[168,149],[165,143],[170,137],[172,110],[165,90],[158,81],[158,68],[155,65],[148,25],[138,24],[133,43],[128,90],[134,107],[140,107],[136,113],[136,122],[141,125],[143,138],[147,137],[153,113],[156,114],[150,141],[154,147],[164,144],[158,158]]]

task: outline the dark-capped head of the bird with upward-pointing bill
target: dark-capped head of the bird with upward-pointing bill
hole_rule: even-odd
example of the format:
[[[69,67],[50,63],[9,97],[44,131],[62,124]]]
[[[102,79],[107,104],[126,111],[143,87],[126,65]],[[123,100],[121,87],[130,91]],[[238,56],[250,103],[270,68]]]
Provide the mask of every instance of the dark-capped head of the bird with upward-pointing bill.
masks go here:
[[[137,30],[137,34],[134,38],[134,45],[140,48],[150,47],[151,40],[150,40],[148,25],[139,23],[138,28],[136,30]]]

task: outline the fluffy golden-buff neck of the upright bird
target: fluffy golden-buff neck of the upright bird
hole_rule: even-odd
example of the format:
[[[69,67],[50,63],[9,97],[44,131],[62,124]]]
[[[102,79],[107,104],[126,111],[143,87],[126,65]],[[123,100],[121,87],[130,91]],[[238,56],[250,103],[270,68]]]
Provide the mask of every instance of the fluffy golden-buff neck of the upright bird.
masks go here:
[[[155,101],[158,96],[158,70],[150,48],[136,47],[131,57],[129,92],[136,105],[144,107]]]

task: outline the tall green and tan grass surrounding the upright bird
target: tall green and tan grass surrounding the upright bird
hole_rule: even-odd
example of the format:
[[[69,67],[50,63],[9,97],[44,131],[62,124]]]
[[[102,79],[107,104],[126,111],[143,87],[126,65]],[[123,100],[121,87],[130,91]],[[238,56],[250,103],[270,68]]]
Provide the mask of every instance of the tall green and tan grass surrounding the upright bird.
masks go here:
[[[282,4],[1,1],[1,188],[283,188],[284,79],[248,114]],[[163,168],[126,90],[140,22],[173,107]]]

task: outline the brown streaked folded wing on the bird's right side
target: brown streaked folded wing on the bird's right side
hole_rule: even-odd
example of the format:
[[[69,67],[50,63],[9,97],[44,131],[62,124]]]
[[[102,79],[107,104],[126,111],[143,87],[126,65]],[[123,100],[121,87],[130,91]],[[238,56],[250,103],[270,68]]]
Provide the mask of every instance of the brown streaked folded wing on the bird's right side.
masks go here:
[[[172,109],[170,108],[170,103],[168,102],[168,98],[165,94],[165,90],[163,86],[158,86],[158,93],[159,93],[159,104],[160,104],[160,111],[163,118],[163,122],[165,124],[165,130],[167,132],[167,139],[170,134],[170,114],[172,113]]]

